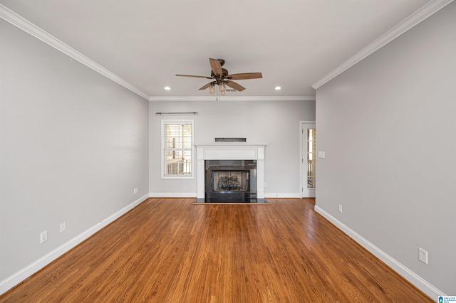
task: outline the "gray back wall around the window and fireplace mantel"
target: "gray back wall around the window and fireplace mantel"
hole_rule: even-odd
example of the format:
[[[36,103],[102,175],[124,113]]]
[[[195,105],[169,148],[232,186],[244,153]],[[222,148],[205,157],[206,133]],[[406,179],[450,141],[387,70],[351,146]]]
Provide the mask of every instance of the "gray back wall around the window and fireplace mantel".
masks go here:
[[[190,116],[160,116],[155,112],[198,112]],[[267,196],[299,196],[299,121],[315,120],[315,101],[189,101],[150,103],[150,192],[192,193],[196,178],[161,179],[161,119],[194,119],[195,143],[215,137],[246,137],[265,143],[264,188]]]

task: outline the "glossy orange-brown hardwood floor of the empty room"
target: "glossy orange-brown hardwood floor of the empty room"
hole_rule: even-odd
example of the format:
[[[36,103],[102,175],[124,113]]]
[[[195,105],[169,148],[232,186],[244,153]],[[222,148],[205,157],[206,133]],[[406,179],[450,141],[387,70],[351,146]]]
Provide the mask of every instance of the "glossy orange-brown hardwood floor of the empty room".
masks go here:
[[[150,198],[0,302],[434,302],[314,212],[314,199]]]

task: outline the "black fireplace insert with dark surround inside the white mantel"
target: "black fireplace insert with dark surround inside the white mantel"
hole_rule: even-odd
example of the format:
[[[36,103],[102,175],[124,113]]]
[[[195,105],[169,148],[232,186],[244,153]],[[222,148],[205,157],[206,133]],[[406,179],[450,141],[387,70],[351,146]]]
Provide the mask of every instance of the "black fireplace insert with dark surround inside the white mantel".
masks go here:
[[[257,198],[257,160],[206,160],[205,201],[250,202]]]

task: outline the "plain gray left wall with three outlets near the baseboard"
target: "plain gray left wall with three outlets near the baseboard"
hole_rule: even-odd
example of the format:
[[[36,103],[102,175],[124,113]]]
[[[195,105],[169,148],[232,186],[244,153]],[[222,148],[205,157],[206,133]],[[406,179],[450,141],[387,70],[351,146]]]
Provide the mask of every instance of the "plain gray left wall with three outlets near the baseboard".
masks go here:
[[[147,195],[149,105],[3,20],[0,39],[2,281]]]

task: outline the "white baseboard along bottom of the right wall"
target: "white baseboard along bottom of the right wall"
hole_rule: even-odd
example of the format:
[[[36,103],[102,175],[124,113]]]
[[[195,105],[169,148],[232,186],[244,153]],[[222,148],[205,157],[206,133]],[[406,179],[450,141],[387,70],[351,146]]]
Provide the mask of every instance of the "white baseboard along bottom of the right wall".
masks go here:
[[[324,211],[322,208],[319,208],[318,206],[315,206],[315,211],[319,213],[321,216],[326,218],[328,221],[336,225],[340,230],[342,230],[344,233],[346,233],[350,238],[355,240],[357,243],[359,243],[363,248],[366,248],[369,252],[371,252],[375,257],[378,257],[380,260],[385,262],[386,265],[391,267],[395,272],[398,272],[399,275],[404,277],[405,280],[408,280],[410,283],[415,285],[418,289],[420,289],[422,292],[427,294],[429,297],[435,299],[439,296],[445,296],[443,292],[441,292],[439,289],[436,287],[430,285],[429,282],[424,280],[422,277],[419,275],[415,274],[415,272],[409,270],[407,267],[402,265],[400,262],[395,260],[393,257],[390,257],[386,252],[383,250],[380,250],[380,248],[376,247],[373,245],[371,242],[366,240],[365,238],[361,237],[358,233],[356,233],[354,230],[349,228],[347,225],[341,223],[341,221],[337,220],[333,216],[331,216],[329,213]]]

